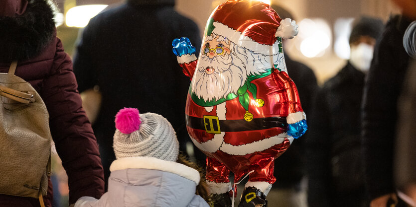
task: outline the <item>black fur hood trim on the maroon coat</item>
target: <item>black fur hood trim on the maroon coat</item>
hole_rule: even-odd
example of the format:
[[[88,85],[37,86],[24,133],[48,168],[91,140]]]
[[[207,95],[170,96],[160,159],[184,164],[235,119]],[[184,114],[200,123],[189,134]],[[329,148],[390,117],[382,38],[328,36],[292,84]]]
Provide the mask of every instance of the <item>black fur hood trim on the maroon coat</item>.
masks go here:
[[[0,16],[0,62],[38,55],[55,34],[55,8],[49,0],[29,0],[22,15]]]

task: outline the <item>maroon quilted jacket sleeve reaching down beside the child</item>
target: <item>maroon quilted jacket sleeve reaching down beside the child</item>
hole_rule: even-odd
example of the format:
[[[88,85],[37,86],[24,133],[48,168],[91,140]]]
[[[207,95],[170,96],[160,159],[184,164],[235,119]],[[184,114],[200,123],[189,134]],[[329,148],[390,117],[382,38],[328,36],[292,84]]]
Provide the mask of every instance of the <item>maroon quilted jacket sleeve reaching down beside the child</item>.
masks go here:
[[[82,109],[70,57],[56,38],[56,52],[41,90],[49,111],[49,125],[56,150],[68,175],[69,203],[82,196],[100,198],[104,175],[98,144]]]

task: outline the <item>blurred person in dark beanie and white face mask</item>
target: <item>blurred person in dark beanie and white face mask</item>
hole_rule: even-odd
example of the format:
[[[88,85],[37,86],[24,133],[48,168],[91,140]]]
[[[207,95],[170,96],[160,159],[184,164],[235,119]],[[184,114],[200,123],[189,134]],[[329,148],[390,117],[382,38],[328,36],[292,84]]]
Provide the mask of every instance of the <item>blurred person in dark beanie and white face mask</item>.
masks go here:
[[[364,79],[383,22],[360,17],[349,38],[351,56],[313,102],[307,143],[309,207],[368,207],[361,156]]]

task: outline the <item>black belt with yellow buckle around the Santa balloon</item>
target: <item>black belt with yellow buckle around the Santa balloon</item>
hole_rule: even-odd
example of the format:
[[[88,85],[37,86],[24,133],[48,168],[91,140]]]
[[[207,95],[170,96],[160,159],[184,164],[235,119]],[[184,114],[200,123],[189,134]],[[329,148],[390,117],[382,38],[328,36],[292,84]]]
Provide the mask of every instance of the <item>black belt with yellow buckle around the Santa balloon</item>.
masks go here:
[[[210,134],[221,134],[221,132],[242,132],[267,130],[272,128],[286,128],[286,118],[265,117],[255,118],[248,122],[240,120],[219,120],[217,116],[204,116],[203,118],[186,115],[186,125],[192,129],[204,130]]]

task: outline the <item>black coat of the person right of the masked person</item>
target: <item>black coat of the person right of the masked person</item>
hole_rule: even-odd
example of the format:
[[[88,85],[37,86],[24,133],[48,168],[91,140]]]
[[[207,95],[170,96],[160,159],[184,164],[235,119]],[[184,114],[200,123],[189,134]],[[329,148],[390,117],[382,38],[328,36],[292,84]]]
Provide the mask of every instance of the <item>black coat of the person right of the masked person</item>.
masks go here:
[[[363,98],[363,152],[370,199],[395,192],[393,153],[397,100],[408,68],[403,35],[410,21],[389,20],[376,45]]]

